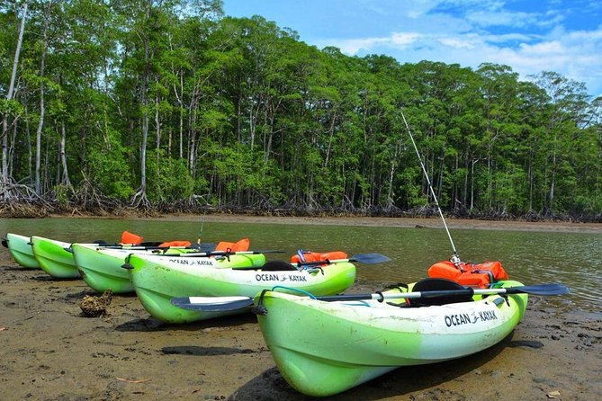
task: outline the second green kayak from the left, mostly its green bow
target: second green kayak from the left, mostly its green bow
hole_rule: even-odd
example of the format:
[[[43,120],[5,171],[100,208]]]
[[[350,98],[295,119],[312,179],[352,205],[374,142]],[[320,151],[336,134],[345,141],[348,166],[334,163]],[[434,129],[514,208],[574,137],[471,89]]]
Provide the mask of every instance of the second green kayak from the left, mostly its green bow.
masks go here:
[[[31,244],[33,254],[44,272],[58,279],[79,278],[73,254],[67,251],[70,243],[31,236]]]

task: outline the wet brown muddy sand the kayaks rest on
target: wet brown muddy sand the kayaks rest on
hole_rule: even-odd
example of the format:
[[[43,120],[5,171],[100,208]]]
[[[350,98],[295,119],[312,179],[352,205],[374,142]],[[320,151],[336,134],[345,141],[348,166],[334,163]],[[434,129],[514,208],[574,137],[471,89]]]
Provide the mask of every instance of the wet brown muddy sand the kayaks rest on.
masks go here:
[[[369,220],[364,224],[384,224]],[[436,219],[403,220],[409,227],[440,227]],[[454,227],[454,220],[448,224]],[[358,283],[346,292],[384,284]],[[251,314],[165,325],[135,296],[115,296],[110,316],[85,317],[79,308],[85,295],[97,294],[84,281],[56,281],[18,267],[0,250],[0,399],[310,399],[284,381]],[[489,350],[400,368],[326,399],[602,399],[602,312],[562,311],[532,297],[523,322]]]

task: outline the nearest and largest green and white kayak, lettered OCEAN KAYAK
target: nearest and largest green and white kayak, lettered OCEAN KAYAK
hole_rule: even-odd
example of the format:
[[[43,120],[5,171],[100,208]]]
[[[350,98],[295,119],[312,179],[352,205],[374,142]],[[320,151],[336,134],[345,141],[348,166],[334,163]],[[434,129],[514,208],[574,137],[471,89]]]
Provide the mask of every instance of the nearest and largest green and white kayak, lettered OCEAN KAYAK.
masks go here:
[[[256,298],[267,310],[257,317],[284,379],[305,395],[325,397],[400,366],[461,358],[499,343],[525,314],[527,295],[429,307],[396,302],[325,302],[274,291]]]

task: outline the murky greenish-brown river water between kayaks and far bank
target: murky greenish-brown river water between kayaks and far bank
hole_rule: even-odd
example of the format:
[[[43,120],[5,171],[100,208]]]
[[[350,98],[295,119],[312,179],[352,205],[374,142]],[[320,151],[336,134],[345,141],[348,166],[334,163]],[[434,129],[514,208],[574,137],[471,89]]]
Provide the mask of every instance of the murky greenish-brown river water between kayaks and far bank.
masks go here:
[[[391,262],[357,263],[357,279],[363,283],[412,282],[423,278],[427,268],[448,259],[451,245],[443,228],[354,227],[248,222],[205,222],[124,218],[0,218],[0,233],[47,236],[66,242],[117,242],[123,230],[144,236],[145,241],[188,239],[202,227],[203,242],[236,241],[248,236],[251,249],[283,250],[268,259],[287,259],[301,247],[313,251],[341,250],[353,254],[381,253]],[[566,232],[527,232],[456,229],[452,236],[464,262],[499,260],[511,279],[525,284],[561,282],[571,294],[549,297],[555,307],[600,310],[602,304],[602,235]],[[7,252],[0,255],[7,263]],[[6,261],[6,262],[5,262]],[[378,285],[378,286],[377,286]]]

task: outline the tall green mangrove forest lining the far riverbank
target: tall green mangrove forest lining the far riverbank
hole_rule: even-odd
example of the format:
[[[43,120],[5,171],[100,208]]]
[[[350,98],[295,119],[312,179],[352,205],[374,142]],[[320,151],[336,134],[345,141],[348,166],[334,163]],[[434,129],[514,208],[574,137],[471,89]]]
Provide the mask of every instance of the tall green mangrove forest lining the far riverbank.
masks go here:
[[[442,209],[600,218],[601,104],[553,71],[317,49],[219,0],[0,6],[4,201],[428,210],[405,117]]]

